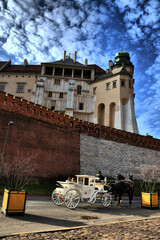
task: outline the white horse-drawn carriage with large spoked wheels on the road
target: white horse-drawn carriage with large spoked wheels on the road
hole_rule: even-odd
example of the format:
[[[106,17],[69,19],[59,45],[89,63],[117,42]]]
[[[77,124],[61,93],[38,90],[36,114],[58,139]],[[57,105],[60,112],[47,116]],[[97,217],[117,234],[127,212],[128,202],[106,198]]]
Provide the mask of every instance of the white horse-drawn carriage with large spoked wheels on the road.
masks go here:
[[[98,178],[89,175],[76,175],[76,182],[58,181],[57,187],[52,193],[54,204],[61,206],[65,204],[67,208],[74,209],[79,202],[87,201],[90,204],[99,198],[104,207],[108,207],[112,201],[112,195],[104,190],[104,183],[98,182]]]

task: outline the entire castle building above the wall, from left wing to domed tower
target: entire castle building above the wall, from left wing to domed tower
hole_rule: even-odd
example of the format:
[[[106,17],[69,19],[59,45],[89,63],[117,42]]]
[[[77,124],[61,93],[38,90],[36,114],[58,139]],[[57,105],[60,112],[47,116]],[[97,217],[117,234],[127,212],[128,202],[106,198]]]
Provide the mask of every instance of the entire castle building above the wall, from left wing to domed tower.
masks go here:
[[[106,71],[76,57],[76,51],[74,59],[64,51],[61,60],[41,66],[1,62],[0,90],[80,120],[138,133],[129,53],[118,52]]]

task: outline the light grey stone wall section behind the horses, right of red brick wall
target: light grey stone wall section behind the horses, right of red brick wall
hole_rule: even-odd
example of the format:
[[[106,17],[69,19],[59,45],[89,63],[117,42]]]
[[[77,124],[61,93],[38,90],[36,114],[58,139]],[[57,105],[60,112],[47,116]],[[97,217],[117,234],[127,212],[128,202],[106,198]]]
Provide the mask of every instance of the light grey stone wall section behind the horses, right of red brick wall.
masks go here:
[[[130,173],[140,179],[145,165],[157,165],[160,174],[160,151],[81,134],[80,153],[81,174],[95,175],[101,170],[104,176],[121,173],[128,177]]]

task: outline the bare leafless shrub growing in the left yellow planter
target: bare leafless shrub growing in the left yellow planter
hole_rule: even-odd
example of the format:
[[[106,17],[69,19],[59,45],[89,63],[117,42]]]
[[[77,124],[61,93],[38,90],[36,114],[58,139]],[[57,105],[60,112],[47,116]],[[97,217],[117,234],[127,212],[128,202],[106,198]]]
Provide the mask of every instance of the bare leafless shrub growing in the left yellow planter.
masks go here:
[[[33,180],[33,173],[37,164],[35,158],[37,154],[24,153],[17,151],[12,160],[4,164],[3,182],[5,187],[13,190],[21,190]]]

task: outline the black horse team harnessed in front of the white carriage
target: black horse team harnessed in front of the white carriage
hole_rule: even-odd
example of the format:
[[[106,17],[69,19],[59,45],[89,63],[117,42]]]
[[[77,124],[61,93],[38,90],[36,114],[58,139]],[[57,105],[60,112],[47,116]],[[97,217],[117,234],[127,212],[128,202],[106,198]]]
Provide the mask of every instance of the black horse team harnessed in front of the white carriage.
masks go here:
[[[132,204],[134,192],[133,176],[129,176],[129,180],[126,180],[125,177],[119,173],[117,181],[115,183],[110,183],[109,186],[109,191],[115,196],[115,203],[117,202],[117,196],[119,197],[118,203],[120,204],[123,193],[128,193],[129,204]]]

